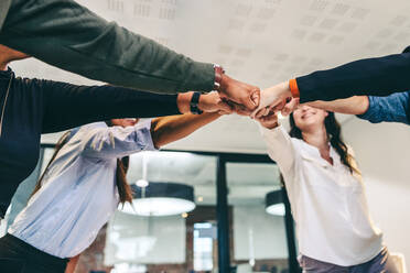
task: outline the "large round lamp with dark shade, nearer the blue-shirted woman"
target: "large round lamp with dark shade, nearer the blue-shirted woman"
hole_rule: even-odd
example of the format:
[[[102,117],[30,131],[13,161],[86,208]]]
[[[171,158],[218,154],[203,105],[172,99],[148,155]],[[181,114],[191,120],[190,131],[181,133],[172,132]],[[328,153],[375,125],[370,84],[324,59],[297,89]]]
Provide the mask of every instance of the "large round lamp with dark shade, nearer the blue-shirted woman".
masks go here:
[[[150,182],[147,187],[131,185],[132,205],[127,203],[119,210],[139,216],[181,215],[195,209],[194,188],[185,184]]]

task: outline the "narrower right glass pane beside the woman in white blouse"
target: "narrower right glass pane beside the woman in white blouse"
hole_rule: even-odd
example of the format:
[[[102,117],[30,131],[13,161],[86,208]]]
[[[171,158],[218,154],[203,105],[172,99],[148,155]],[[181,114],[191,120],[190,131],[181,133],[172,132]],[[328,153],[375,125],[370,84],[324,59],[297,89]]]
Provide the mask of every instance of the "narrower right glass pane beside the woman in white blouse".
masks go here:
[[[272,214],[267,204],[268,194],[281,194],[277,165],[227,163],[226,172],[233,215],[231,264],[238,272],[285,272],[289,253],[284,210]],[[281,200],[274,205],[283,208]]]

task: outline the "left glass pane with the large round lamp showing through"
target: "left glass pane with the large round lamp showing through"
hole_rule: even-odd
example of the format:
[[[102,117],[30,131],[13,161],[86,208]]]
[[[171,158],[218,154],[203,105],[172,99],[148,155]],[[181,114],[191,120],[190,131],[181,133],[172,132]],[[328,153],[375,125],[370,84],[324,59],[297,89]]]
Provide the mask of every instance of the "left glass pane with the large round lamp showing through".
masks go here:
[[[114,272],[217,272],[216,157],[142,152],[130,156],[127,178],[138,196],[109,221],[105,263]]]

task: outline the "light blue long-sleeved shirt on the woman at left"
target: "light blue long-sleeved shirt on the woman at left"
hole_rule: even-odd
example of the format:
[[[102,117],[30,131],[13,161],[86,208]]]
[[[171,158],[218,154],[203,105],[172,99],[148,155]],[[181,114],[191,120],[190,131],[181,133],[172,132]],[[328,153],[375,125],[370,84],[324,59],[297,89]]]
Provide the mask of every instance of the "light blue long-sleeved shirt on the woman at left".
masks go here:
[[[118,207],[117,159],[155,150],[150,128],[150,122],[82,127],[58,152],[9,233],[58,258],[83,252]]]

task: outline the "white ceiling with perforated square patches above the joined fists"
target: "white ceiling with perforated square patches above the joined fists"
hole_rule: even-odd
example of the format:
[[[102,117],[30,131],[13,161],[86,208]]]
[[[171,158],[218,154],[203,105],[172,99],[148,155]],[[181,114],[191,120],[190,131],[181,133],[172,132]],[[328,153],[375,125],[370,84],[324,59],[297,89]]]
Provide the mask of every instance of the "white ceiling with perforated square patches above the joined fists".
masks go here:
[[[398,53],[410,44],[407,0],[78,2],[180,53],[220,64],[229,75],[261,88],[357,58]],[[34,59],[12,67],[22,76],[95,84]],[[43,141],[55,138],[48,135]],[[256,124],[235,116],[224,117],[170,148],[265,151]]]

